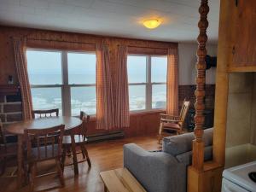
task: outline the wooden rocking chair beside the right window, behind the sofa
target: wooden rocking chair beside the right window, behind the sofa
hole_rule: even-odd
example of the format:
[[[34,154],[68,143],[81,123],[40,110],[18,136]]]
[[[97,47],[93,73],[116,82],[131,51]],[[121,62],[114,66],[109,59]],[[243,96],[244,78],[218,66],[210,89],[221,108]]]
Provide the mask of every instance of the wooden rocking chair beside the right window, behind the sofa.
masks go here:
[[[189,105],[190,102],[184,100],[179,116],[160,113],[159,143],[163,131],[176,131],[177,134],[181,134],[183,132],[183,124],[187,113],[189,112]]]

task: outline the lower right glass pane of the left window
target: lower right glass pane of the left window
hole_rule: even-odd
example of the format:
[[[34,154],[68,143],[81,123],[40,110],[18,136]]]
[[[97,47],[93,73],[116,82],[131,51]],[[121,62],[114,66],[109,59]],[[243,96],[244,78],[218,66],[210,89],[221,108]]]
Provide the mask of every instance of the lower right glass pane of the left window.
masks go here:
[[[96,87],[71,87],[71,114],[96,114]]]

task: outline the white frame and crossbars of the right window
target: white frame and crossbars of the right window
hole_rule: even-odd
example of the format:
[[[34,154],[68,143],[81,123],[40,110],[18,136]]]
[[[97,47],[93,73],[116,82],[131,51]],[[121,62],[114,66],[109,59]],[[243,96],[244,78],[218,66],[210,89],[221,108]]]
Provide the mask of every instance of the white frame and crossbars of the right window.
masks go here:
[[[166,110],[166,108],[152,108],[152,87],[155,84],[166,84],[167,87],[167,80],[166,82],[152,82],[151,80],[151,67],[152,67],[152,57],[167,57],[167,55],[145,55],[145,54],[129,54],[127,55],[127,67],[128,67],[128,56],[145,56],[146,57],[146,82],[145,83],[129,83],[129,74],[128,77],[128,89],[130,85],[145,85],[146,93],[145,93],[145,109],[141,110],[131,110],[130,113],[141,113],[141,112],[150,112],[150,111],[159,111],[159,110]],[[166,68],[167,70],[167,68]],[[128,70],[127,70],[128,73]],[[167,90],[166,90],[167,91]],[[130,101],[130,98],[129,98]],[[130,103],[129,103],[130,105]]]

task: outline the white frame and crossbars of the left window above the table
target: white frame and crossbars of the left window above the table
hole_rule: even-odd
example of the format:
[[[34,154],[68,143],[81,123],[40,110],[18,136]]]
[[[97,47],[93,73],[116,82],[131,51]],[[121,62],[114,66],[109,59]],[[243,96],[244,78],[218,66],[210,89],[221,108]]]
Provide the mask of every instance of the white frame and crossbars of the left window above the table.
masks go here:
[[[61,53],[61,84],[30,84],[32,88],[61,88],[61,109],[63,116],[72,116],[71,108],[71,88],[72,87],[96,87],[95,84],[69,84],[68,83],[68,53],[78,53],[78,54],[94,54],[96,51],[86,51],[86,50],[69,50],[69,49],[39,49],[39,48],[27,48],[26,51],[52,51]],[[95,63],[96,64],[96,63]],[[95,116],[96,114],[90,114]],[[79,115],[74,115],[79,116]]]

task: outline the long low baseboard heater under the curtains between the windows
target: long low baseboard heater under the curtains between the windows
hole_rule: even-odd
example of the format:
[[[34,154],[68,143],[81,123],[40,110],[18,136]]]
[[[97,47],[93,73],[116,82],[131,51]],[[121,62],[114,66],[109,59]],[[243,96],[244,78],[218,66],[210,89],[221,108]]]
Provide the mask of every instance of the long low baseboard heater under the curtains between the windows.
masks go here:
[[[89,143],[110,140],[110,139],[123,138],[123,137],[125,137],[124,131],[112,131],[112,132],[108,132],[108,133],[100,133],[100,134],[87,136]]]

